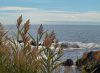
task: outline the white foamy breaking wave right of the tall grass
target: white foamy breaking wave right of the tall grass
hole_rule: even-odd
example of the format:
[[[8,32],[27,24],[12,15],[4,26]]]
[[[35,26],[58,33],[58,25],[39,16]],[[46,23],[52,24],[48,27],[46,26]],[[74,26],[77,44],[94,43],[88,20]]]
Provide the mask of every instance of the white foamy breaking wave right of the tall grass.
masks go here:
[[[68,42],[63,41],[59,44],[64,48],[64,50],[76,50],[76,49],[95,49],[100,48],[99,43],[82,43],[82,42]]]

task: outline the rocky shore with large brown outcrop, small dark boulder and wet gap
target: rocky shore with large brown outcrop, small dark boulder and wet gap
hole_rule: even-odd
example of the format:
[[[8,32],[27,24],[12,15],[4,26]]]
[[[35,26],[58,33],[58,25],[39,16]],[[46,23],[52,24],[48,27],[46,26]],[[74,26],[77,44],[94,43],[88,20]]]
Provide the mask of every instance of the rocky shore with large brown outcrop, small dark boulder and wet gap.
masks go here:
[[[62,66],[64,73],[100,73],[100,51],[85,52],[75,63],[72,59],[67,59]]]

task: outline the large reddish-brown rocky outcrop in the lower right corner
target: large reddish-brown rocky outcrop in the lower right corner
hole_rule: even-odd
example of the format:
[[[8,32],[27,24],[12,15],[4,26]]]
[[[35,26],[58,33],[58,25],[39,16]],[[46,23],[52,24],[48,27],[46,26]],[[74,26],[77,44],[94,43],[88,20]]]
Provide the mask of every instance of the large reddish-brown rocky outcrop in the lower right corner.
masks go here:
[[[100,51],[85,52],[82,58],[76,61],[85,73],[100,73]]]

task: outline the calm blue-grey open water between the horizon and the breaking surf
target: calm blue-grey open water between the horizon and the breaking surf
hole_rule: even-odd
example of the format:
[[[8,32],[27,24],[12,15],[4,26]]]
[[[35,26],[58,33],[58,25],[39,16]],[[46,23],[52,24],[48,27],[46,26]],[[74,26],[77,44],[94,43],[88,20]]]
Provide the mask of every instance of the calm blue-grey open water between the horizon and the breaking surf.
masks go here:
[[[59,41],[100,43],[100,25],[43,25],[45,30],[54,30]],[[35,36],[39,25],[31,25],[30,33]],[[15,25],[5,28],[15,32]]]

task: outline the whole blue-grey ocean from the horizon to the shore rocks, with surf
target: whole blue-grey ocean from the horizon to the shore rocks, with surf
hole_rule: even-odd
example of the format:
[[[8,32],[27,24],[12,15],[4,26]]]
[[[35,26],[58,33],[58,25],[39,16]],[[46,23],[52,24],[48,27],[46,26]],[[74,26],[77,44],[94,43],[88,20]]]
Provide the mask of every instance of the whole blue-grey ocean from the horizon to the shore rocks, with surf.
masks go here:
[[[16,31],[15,25],[6,25],[10,34]],[[39,25],[30,26],[30,34],[36,36]],[[44,30],[54,31],[62,43],[78,44],[79,48],[65,48],[63,60],[77,60],[84,52],[100,50],[100,25],[43,25]]]

